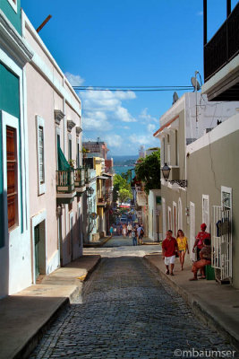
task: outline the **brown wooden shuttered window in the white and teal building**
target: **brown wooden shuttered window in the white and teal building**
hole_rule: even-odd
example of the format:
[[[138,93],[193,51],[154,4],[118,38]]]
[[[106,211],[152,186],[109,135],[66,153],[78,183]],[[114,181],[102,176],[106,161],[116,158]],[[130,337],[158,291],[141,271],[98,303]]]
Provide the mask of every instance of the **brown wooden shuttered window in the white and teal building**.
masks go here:
[[[6,165],[7,165],[7,215],[8,228],[18,223],[18,175],[16,129],[6,127]]]

